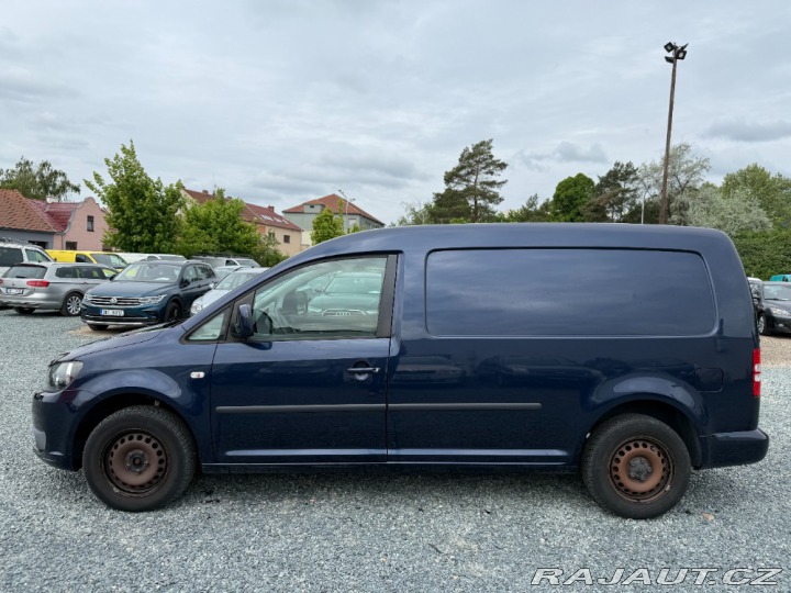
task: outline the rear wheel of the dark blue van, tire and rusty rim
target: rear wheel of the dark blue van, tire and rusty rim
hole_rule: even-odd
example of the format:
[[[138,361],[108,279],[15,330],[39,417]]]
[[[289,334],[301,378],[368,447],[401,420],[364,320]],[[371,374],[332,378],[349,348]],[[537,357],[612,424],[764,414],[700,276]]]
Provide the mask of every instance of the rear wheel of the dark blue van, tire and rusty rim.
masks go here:
[[[630,473],[624,473],[626,467]],[[593,500],[626,518],[656,517],[676,506],[691,470],[678,433],[642,414],[615,416],[597,428],[586,445],[581,469]]]

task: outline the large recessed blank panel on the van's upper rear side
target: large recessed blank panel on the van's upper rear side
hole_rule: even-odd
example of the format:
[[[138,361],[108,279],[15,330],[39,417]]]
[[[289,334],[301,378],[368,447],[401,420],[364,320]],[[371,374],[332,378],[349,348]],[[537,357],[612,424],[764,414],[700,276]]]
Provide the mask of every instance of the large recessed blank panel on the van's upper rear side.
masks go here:
[[[630,249],[434,251],[435,336],[693,336],[715,326],[702,258]]]

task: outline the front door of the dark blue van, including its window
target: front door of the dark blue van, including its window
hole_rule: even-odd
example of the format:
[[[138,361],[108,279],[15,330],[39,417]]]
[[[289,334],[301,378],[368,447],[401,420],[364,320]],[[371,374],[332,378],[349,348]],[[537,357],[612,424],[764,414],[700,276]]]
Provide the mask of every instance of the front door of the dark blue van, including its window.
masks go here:
[[[242,296],[254,336],[218,345],[212,430],[220,463],[387,459],[394,256],[325,260]],[[390,271],[392,270],[392,271]]]

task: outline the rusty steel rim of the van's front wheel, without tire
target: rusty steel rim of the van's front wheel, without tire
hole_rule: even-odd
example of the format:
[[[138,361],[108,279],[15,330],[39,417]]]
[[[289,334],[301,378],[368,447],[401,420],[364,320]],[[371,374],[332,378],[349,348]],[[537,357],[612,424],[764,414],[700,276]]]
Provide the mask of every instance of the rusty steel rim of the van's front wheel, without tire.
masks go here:
[[[149,433],[125,433],[113,440],[104,456],[105,471],[119,490],[146,494],[156,490],[168,472],[168,456]]]

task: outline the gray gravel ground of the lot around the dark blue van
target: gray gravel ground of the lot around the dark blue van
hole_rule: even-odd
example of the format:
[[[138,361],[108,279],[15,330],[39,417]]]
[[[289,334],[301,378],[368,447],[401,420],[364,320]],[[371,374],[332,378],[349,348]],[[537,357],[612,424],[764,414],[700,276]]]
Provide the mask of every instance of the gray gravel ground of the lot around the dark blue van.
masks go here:
[[[133,515],[32,452],[32,392],[52,358],[96,339],[79,328],[0,311],[0,591],[523,591],[539,568],[579,571],[546,590],[711,568],[703,589],[733,591],[725,571],[772,567],[791,591],[791,338],[762,340],[768,458],[693,474],[658,519],[605,514],[573,475],[211,475]]]

